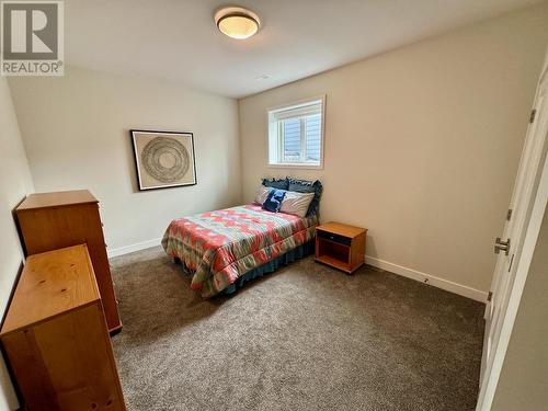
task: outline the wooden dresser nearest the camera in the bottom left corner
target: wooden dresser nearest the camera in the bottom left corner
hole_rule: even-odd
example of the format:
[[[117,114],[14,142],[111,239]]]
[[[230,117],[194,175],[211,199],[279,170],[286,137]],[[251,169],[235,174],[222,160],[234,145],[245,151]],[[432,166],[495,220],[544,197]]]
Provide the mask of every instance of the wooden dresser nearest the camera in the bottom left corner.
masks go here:
[[[87,246],[27,258],[0,340],[24,409],[125,410]]]

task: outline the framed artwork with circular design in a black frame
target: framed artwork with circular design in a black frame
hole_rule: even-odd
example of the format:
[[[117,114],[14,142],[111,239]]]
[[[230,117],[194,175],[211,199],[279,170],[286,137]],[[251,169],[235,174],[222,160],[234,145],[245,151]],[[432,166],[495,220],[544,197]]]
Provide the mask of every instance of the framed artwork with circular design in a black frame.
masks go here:
[[[192,133],[132,129],[140,191],[196,184]]]

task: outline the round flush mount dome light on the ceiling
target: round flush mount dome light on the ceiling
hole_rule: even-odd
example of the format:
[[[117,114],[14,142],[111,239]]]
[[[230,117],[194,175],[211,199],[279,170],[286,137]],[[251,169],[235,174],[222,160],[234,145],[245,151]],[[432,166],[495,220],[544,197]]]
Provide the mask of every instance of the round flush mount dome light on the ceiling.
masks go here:
[[[215,24],[232,38],[248,38],[259,31],[261,21],[255,13],[239,7],[222,8],[215,13]]]

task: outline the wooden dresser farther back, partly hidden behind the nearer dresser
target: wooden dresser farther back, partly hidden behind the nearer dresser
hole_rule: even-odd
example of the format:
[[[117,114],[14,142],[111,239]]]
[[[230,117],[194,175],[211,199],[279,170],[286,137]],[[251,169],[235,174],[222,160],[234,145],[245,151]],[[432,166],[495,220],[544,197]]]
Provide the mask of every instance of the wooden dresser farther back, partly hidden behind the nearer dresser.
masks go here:
[[[109,331],[122,329],[99,201],[87,190],[31,194],[15,209],[26,255],[87,243]]]

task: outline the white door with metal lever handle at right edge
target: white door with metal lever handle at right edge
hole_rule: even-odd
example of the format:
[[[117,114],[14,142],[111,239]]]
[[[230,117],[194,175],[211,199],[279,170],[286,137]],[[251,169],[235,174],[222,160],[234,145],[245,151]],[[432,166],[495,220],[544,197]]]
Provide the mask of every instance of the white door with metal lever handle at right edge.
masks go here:
[[[548,61],[548,59],[547,59]],[[506,313],[510,294],[515,279],[516,267],[522,254],[526,225],[530,218],[534,195],[540,179],[547,149],[548,132],[548,73],[547,65],[538,83],[532,119],[522,152],[522,159],[514,184],[512,201],[503,235],[495,240],[494,251],[499,254],[491,284],[490,300],[486,306],[486,335],[481,362],[480,401],[484,395],[484,379],[489,378],[493,354],[499,343],[502,323]]]

